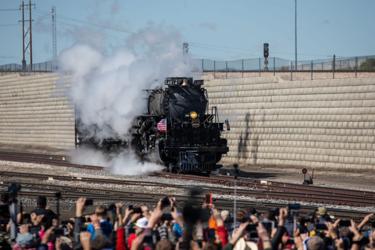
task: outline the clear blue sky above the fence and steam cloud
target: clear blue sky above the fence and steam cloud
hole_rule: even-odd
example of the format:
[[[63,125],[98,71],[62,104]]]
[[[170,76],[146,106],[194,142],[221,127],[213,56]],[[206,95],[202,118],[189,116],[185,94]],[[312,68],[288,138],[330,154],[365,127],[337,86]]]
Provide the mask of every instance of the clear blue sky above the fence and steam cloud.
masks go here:
[[[25,4],[28,1],[24,1]],[[33,63],[52,59],[51,6],[56,7],[57,55],[89,40],[111,54],[139,30],[153,27],[189,43],[193,58],[295,59],[294,0],[32,0]],[[22,61],[22,1],[0,5],[0,65]],[[375,54],[374,0],[297,0],[297,59]],[[28,19],[28,10],[25,10]],[[28,24],[25,24],[28,27]],[[26,39],[27,40],[27,39]],[[28,42],[28,41],[27,41]],[[137,47],[137,45],[135,45]],[[142,47],[139,46],[138,47]],[[135,48],[139,54],[142,48]],[[26,63],[30,61],[28,52]]]

